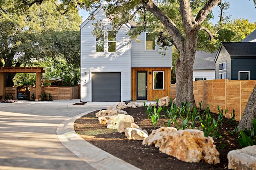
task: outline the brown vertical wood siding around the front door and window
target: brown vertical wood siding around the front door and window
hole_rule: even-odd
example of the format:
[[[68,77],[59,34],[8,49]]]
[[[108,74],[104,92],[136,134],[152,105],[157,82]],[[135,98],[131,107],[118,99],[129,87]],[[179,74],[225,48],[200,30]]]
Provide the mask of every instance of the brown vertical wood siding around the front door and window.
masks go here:
[[[136,72],[147,71],[147,101],[171,96],[171,68],[132,68],[132,101],[136,101]],[[153,71],[164,71],[164,89],[153,89]],[[151,74],[150,74],[151,73]]]

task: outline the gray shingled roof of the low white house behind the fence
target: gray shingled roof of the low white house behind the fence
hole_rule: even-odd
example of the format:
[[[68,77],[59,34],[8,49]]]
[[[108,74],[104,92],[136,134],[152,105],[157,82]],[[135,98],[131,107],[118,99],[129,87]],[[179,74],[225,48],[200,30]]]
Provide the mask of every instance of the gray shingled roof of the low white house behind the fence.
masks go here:
[[[217,51],[214,53],[205,52],[205,51],[196,51],[195,61],[193,65],[193,70],[214,70],[214,58],[217,54]]]

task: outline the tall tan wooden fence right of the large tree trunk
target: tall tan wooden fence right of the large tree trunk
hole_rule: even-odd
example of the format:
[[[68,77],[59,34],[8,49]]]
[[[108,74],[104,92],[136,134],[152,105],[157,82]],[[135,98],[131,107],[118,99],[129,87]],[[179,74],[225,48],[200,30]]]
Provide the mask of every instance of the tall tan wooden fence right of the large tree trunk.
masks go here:
[[[240,121],[247,101],[256,85],[256,80],[201,80],[194,81],[194,97],[197,107],[202,101],[202,109],[210,105],[210,111],[219,113],[217,106],[223,109],[225,117],[230,118],[235,111],[236,120]],[[225,109],[228,112],[225,114]]]

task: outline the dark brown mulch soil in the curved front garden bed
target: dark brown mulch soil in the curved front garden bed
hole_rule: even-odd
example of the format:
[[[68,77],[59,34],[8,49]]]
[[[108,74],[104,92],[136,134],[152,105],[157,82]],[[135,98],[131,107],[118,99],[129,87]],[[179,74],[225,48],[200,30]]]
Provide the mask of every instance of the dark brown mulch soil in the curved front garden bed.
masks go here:
[[[151,119],[148,119],[144,107],[138,107],[137,109],[127,108],[124,109],[134,117],[134,123],[140,128],[146,129],[148,134],[151,134],[154,130]],[[234,130],[234,125],[228,123],[228,119],[224,119],[222,127],[219,127],[219,132],[222,135],[222,140],[214,138],[214,144],[218,152],[220,152],[219,164],[207,164],[205,162],[188,163],[178,160],[173,156],[161,153],[158,148],[154,146],[142,145],[142,140],[128,140],[123,133],[117,132],[106,128],[107,125],[100,124],[98,118],[95,117],[94,111],[76,120],[74,123],[74,129],[84,140],[90,142],[94,146],[105,150],[106,152],[140,168],[143,170],[221,170],[228,169],[227,154],[230,150],[242,148],[238,143],[238,134],[231,134],[229,130]],[[202,113],[202,111],[201,111]],[[161,114],[160,114],[161,115]],[[212,113],[212,118],[217,120],[218,115]],[[160,116],[157,123],[157,127],[164,127],[168,119]],[[172,124],[173,127],[176,127]],[[195,127],[201,127],[199,121],[197,121]],[[223,144],[226,147],[220,148]]]

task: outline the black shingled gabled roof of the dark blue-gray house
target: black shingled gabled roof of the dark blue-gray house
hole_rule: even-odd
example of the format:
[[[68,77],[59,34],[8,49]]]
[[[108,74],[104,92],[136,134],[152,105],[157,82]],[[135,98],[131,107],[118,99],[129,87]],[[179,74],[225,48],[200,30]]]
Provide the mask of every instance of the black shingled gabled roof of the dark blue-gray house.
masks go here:
[[[226,49],[230,57],[256,57],[256,42],[229,42],[220,44],[214,62],[218,59],[222,48]]]

